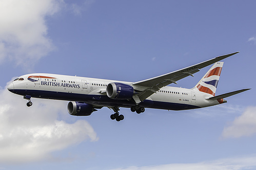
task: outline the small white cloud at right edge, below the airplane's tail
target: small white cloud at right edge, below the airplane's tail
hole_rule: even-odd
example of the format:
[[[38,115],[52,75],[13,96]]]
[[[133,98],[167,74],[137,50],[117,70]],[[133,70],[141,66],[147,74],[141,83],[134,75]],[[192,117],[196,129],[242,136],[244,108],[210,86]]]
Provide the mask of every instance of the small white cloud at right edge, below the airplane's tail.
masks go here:
[[[256,133],[256,107],[248,107],[241,116],[225,127],[222,132],[223,138],[238,138],[251,136]]]

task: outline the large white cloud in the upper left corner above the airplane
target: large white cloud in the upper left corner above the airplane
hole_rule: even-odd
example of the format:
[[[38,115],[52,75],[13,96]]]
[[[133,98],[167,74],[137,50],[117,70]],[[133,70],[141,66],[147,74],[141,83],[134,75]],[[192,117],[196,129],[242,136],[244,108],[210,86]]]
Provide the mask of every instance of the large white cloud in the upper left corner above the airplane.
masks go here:
[[[61,0],[2,0],[0,6],[0,62],[30,64],[53,50],[47,37],[46,16],[60,10]]]

